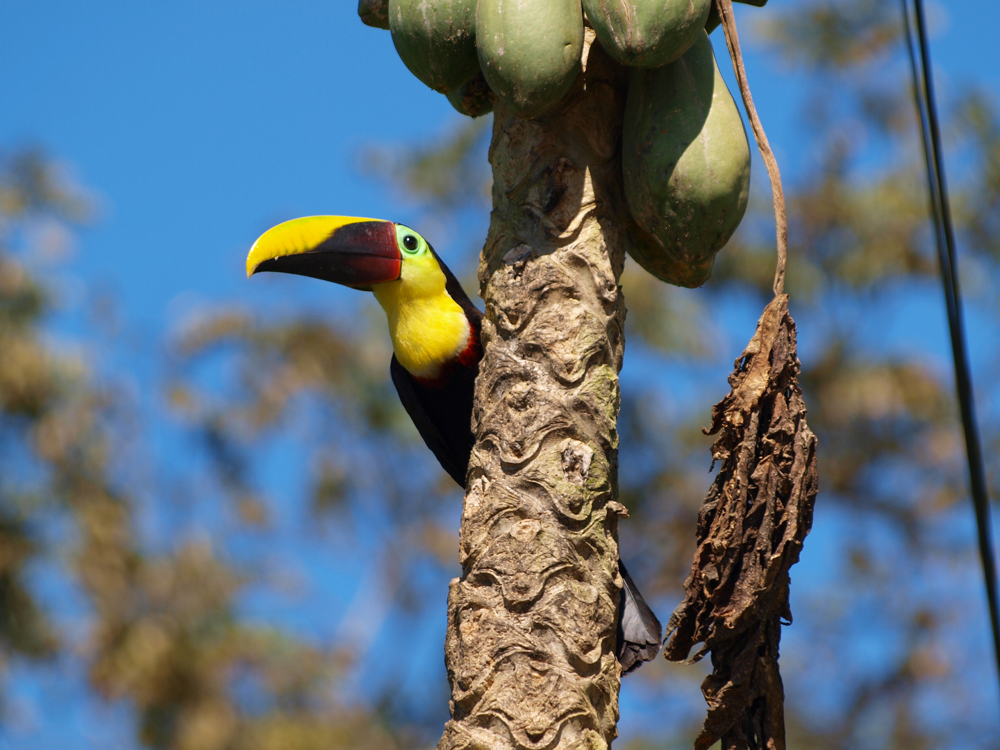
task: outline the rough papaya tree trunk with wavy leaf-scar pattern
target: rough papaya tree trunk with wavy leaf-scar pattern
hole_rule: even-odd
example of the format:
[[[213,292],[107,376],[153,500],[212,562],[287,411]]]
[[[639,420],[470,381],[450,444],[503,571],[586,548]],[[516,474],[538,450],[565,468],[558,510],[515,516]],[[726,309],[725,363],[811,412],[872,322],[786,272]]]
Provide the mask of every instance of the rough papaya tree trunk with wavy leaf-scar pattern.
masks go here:
[[[626,80],[592,40],[587,29],[583,72],[554,111],[525,120],[495,104],[440,749],[596,750],[617,735]]]

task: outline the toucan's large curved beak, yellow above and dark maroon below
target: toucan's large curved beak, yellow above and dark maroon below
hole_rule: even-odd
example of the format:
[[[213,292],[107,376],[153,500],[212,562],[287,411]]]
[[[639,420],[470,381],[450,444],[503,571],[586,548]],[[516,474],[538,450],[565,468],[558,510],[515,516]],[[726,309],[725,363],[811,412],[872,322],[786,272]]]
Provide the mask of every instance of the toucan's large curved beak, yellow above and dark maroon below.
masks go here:
[[[396,225],[357,216],[305,216],[268,229],[247,255],[247,278],[279,271],[367,287],[399,278]]]

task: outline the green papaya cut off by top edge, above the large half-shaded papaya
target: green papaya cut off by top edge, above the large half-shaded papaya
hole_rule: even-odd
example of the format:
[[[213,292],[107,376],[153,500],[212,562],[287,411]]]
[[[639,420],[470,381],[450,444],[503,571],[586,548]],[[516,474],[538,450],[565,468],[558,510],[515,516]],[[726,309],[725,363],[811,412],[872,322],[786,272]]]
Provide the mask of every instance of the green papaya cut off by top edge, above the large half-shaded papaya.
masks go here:
[[[624,65],[658,68],[695,43],[712,0],[583,0],[601,46]]]

